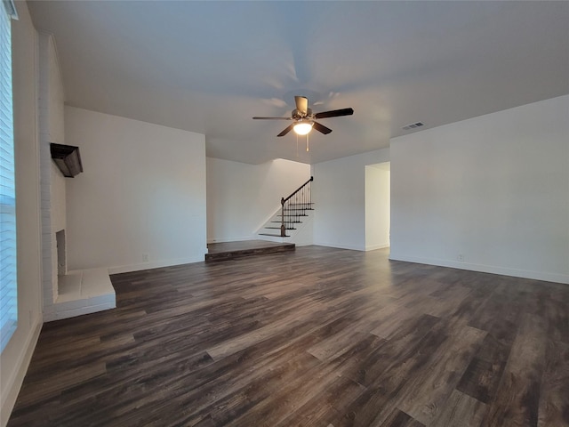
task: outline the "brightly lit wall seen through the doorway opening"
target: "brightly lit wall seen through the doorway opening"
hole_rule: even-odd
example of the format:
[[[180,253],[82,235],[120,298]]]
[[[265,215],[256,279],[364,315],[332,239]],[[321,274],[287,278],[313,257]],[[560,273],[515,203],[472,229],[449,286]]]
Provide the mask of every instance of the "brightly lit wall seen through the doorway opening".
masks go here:
[[[365,250],[389,246],[389,163],[365,166]]]

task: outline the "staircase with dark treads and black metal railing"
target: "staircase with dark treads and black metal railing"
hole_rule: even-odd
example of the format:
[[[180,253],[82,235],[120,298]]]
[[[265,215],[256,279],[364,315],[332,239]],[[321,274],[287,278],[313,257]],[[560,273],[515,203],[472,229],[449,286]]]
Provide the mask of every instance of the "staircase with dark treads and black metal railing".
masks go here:
[[[310,177],[289,197],[281,198],[281,208],[265,224],[258,233],[260,238],[267,238],[273,241],[285,241],[284,238],[291,238],[302,227],[304,222],[310,218],[310,211],[314,210],[312,203],[311,183],[314,181]]]

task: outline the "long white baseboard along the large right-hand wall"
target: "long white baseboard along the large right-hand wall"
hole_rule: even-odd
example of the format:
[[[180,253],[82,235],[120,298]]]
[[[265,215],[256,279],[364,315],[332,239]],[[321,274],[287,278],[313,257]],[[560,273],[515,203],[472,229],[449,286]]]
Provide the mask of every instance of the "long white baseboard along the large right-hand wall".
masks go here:
[[[475,264],[471,262],[458,262],[452,260],[438,260],[424,258],[421,256],[410,256],[393,253],[389,255],[389,259],[394,261],[417,262],[420,264],[450,267],[452,269],[479,271],[481,273],[501,274],[503,276],[511,276],[514,278],[531,278],[533,280],[543,280],[545,282],[555,282],[569,285],[569,275],[565,274],[549,273],[544,271],[518,270],[496,265]]]

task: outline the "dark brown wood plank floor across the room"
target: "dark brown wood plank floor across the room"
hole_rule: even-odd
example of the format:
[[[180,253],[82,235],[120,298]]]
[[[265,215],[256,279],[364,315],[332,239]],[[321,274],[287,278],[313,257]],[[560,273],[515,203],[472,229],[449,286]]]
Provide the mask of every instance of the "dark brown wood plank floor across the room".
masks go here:
[[[569,286],[320,246],[112,276],[9,426],[567,426]]]

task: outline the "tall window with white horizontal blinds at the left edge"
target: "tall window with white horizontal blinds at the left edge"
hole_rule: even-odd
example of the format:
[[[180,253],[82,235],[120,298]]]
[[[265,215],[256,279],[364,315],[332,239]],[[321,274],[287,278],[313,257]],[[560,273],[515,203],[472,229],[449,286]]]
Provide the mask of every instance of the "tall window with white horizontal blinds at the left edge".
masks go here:
[[[15,14],[12,1],[0,2],[0,351],[18,322],[11,36]]]

